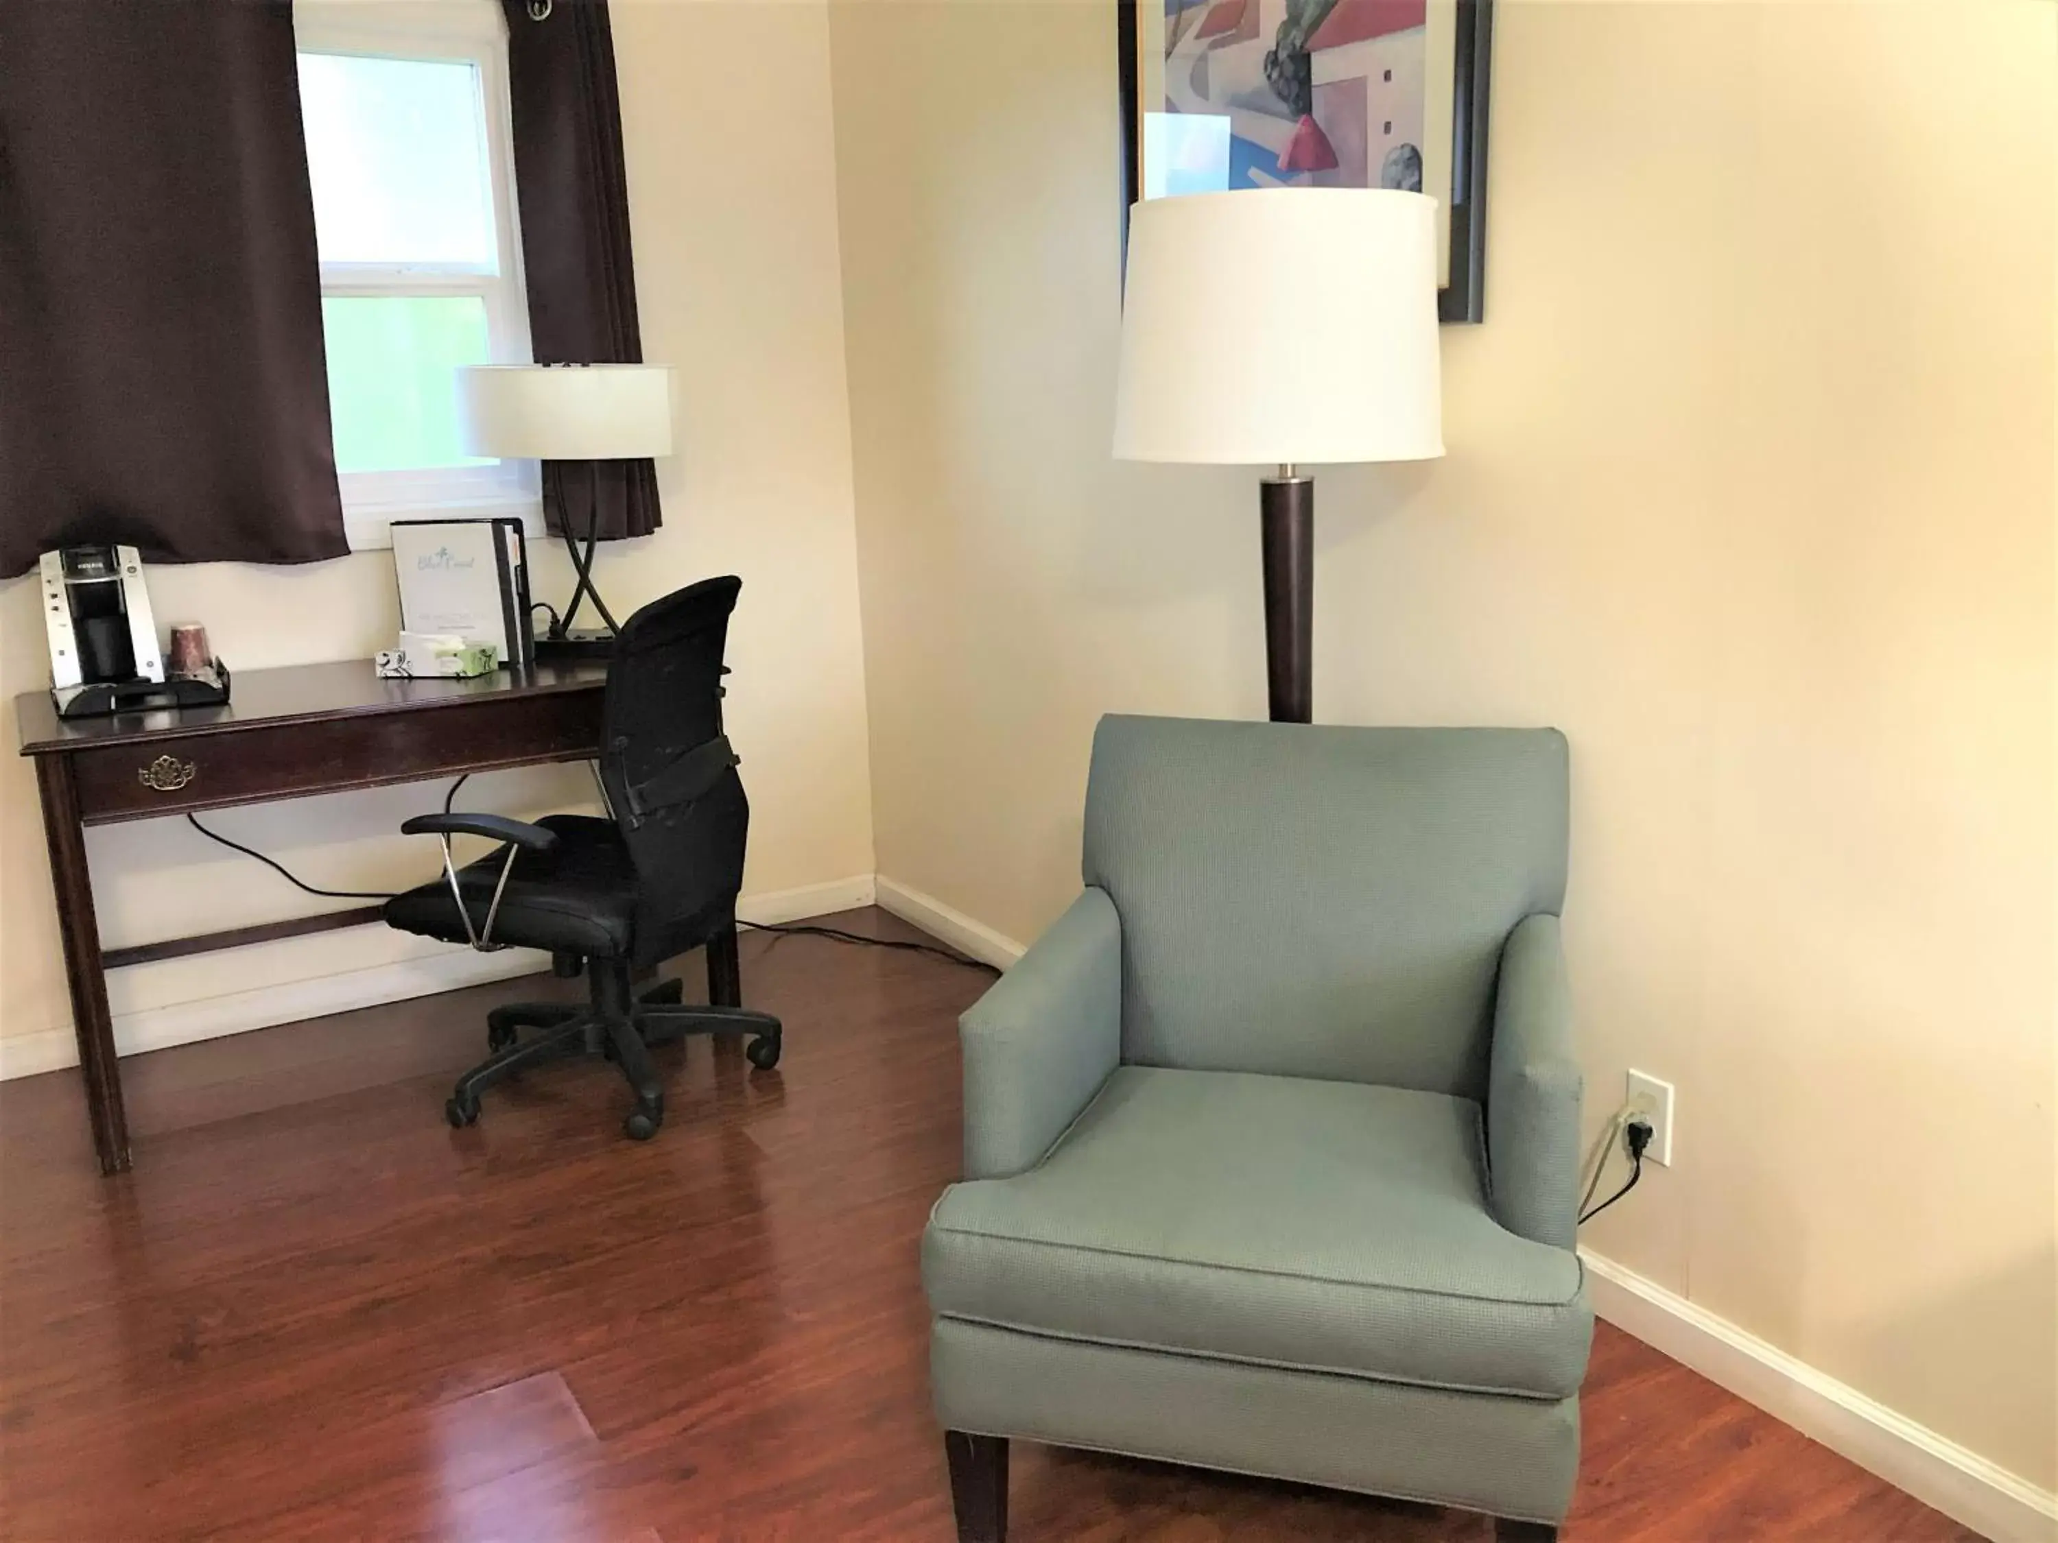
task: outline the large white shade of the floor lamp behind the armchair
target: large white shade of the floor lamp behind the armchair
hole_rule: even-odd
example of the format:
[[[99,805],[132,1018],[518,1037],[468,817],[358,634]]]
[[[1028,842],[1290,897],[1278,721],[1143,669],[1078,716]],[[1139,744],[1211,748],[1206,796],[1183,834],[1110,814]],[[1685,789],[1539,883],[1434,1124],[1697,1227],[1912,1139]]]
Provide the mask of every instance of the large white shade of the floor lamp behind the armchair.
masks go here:
[[[1443,455],[1436,200],[1266,187],[1130,210],[1124,461]]]

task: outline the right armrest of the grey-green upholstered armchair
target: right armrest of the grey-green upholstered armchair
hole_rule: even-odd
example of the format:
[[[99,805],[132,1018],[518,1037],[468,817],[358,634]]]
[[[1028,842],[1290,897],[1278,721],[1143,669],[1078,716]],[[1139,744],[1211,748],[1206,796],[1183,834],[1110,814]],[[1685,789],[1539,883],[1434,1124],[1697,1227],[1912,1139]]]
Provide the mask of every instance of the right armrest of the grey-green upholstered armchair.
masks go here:
[[[1494,1218],[1525,1239],[1570,1249],[1578,1234],[1578,1097],[1572,996],[1556,916],[1527,916],[1500,950],[1486,1154]]]

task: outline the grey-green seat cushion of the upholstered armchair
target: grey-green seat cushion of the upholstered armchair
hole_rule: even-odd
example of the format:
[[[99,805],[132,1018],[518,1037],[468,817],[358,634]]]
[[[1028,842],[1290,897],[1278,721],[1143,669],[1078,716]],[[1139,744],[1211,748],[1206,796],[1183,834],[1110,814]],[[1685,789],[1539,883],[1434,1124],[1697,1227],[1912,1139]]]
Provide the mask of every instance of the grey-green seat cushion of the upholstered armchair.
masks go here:
[[[1469,1099],[1124,1066],[1052,1152],[945,1191],[941,1317],[1426,1387],[1560,1399],[1578,1257],[1488,1210]]]

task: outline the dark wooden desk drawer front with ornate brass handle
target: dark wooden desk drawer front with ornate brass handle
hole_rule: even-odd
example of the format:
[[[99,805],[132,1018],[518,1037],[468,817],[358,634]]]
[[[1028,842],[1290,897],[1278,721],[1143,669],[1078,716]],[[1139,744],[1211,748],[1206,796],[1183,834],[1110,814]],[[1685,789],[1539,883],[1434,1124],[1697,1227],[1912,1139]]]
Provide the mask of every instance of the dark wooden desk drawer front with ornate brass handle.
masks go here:
[[[74,751],[84,823],[179,815],[315,792],[597,755],[601,691],[558,691],[270,722]]]

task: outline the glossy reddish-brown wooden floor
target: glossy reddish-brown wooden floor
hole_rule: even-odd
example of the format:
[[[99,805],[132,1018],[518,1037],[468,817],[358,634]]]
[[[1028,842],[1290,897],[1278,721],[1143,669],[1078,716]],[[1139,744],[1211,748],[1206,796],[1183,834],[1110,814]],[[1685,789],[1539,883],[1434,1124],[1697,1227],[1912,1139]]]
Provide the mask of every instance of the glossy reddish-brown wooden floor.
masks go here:
[[[442,1123],[486,1008],[549,979],[132,1060],[113,1181],[76,1074],[0,1086],[0,1533],[945,1543],[916,1239],[957,1171],[953,1020],[984,983],[747,936],[786,1060],[669,1051],[648,1146],[609,1066]],[[1972,1537],[1607,1327],[1585,1432],[1572,1543]],[[1019,1543],[1486,1539],[1025,1444],[1013,1510]]]

